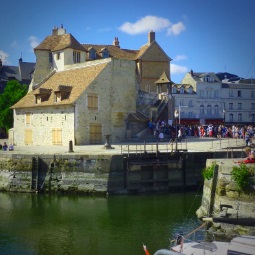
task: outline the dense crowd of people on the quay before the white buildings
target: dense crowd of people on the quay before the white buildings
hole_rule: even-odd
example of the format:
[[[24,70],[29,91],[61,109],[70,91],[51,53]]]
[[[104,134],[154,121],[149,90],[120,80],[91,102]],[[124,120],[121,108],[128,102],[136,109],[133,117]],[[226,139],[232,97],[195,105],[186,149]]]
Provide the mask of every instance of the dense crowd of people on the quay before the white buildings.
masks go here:
[[[252,145],[252,138],[255,134],[255,127],[252,125],[247,126],[226,126],[219,125],[171,125],[167,121],[157,120],[149,121],[149,130],[154,137],[158,137],[160,140],[165,136],[171,138],[182,139],[186,136],[194,136],[199,138],[214,137],[214,138],[236,138],[245,139],[246,145]]]

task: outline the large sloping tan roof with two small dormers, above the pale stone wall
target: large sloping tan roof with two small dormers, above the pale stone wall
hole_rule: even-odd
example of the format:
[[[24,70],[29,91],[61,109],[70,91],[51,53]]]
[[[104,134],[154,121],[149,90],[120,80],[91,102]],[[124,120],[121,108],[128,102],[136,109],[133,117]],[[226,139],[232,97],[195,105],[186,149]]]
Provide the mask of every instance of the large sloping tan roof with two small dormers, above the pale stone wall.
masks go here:
[[[59,71],[54,73],[49,79],[47,79],[40,88],[29,92],[19,102],[12,106],[15,108],[36,108],[43,106],[57,106],[57,105],[70,105],[73,104],[85,89],[91,84],[91,82],[97,77],[100,72],[107,66],[108,62],[98,63],[91,66],[80,67],[75,69],[69,69],[65,71]],[[70,95],[67,99],[60,102],[54,102],[54,92],[59,91],[61,87],[72,87]],[[35,104],[35,95],[42,92],[49,92],[51,90],[48,100],[43,101],[40,104]]]

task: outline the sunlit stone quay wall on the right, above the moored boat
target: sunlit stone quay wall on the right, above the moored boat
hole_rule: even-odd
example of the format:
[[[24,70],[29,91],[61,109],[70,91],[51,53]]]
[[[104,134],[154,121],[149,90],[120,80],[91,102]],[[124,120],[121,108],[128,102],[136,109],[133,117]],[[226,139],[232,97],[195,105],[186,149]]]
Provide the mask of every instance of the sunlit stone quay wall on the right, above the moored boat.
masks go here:
[[[213,178],[204,181],[202,203],[197,210],[197,216],[216,218],[212,225],[216,235],[255,235],[254,224],[240,223],[240,221],[230,223],[230,220],[234,219],[245,219],[245,221],[251,219],[255,222],[255,186],[251,185],[249,191],[240,190],[231,175],[234,166],[240,167],[237,162],[238,159],[208,159],[206,162],[206,167],[216,165]],[[254,164],[246,166],[255,168]],[[251,177],[252,179],[255,181],[254,176]]]

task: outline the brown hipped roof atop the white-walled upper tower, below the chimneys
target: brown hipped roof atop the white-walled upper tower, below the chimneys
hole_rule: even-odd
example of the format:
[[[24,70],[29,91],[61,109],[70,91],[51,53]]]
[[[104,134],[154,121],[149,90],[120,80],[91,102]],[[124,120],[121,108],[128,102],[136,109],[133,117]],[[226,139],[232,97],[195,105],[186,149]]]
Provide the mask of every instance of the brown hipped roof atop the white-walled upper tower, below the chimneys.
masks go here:
[[[72,34],[47,36],[34,50],[57,51],[67,48],[85,51],[84,47],[82,47]]]

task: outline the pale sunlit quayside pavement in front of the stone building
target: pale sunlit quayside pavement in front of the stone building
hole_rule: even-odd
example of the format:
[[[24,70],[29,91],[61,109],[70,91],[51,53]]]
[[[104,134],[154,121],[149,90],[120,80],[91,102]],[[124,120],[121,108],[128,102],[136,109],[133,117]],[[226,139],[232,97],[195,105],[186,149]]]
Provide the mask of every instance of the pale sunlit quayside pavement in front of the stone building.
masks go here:
[[[6,142],[8,139],[0,139],[0,143]],[[245,141],[243,139],[234,138],[198,138],[187,137],[182,142],[169,141],[126,141],[123,143],[110,144],[107,148],[104,144],[100,145],[80,145],[73,146],[73,152],[69,151],[69,146],[51,145],[51,146],[14,146],[13,151],[0,151],[0,157],[6,154],[33,154],[33,155],[118,155],[122,153],[139,153],[146,150],[147,152],[168,152],[178,150],[187,150],[189,152],[210,152],[222,150],[243,150]]]

